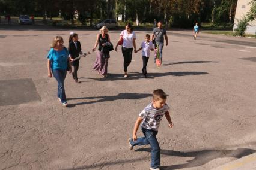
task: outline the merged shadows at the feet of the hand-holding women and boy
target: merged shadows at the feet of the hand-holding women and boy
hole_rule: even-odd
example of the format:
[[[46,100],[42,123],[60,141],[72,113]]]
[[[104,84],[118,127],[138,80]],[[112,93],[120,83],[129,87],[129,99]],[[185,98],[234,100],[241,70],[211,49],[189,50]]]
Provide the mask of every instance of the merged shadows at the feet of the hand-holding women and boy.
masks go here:
[[[168,65],[168,64],[167,64]],[[149,72],[147,79],[153,79],[155,77],[163,77],[168,75],[173,76],[186,76],[186,75],[203,75],[208,74],[208,72]],[[139,78],[144,78],[139,72],[131,72],[129,77],[124,78],[124,74],[116,74],[116,73],[109,73],[107,78],[87,78],[87,77],[80,77],[79,79],[89,79],[81,82],[90,82],[90,81],[115,81],[115,80],[137,80]]]

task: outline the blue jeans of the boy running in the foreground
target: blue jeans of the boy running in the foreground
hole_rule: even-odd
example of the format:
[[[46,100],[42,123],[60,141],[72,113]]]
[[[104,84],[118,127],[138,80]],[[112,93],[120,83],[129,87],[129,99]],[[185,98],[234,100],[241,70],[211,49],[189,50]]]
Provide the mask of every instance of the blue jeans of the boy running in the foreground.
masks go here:
[[[157,131],[142,128],[145,137],[137,138],[136,141],[131,140],[132,146],[148,145],[151,147],[151,168],[159,168],[160,166],[160,147],[156,138]]]

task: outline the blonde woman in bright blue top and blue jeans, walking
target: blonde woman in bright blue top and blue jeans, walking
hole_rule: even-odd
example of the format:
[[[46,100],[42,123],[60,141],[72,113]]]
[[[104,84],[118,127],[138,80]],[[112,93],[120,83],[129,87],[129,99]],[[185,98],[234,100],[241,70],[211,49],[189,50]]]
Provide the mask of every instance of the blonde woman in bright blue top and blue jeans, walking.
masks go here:
[[[67,74],[67,63],[69,65],[69,72],[72,72],[72,67],[70,64],[69,53],[67,48],[63,45],[64,41],[61,36],[56,36],[47,54],[47,65],[48,65],[48,77],[56,78],[58,81],[58,99],[61,101],[64,107],[67,107],[67,99],[65,95],[64,80]]]

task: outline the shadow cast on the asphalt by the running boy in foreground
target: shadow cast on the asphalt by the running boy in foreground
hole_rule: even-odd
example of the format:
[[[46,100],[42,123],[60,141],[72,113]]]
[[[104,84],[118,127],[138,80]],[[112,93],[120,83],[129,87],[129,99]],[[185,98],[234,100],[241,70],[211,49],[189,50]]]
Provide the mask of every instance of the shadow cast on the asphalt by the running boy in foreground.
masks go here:
[[[151,152],[151,148],[139,148],[135,151],[147,151]],[[174,150],[161,150],[161,154],[167,156],[180,156],[180,157],[194,157],[192,160],[188,160],[187,163],[171,165],[171,166],[161,166],[160,169],[181,169],[181,168],[192,168],[204,165],[216,158],[224,157],[235,157],[241,158],[249,154],[255,153],[256,150],[249,148],[237,148],[236,150],[200,150],[200,151],[174,151]]]

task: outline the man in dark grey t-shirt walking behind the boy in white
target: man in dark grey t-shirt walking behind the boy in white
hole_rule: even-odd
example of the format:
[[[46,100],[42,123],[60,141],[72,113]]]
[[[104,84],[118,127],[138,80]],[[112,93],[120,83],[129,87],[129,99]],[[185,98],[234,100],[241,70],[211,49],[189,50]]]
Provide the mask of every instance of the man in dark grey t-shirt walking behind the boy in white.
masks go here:
[[[160,60],[163,63],[163,43],[165,38],[165,45],[168,45],[168,37],[166,34],[166,30],[163,28],[163,23],[161,21],[158,22],[158,27],[154,28],[152,32],[152,42],[154,43],[155,47],[158,44],[159,52],[160,52]],[[164,37],[164,38],[163,38]],[[156,59],[154,58],[154,62],[156,62]]]

